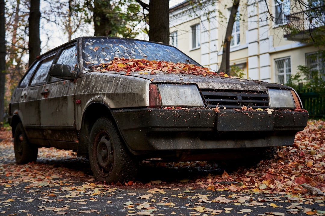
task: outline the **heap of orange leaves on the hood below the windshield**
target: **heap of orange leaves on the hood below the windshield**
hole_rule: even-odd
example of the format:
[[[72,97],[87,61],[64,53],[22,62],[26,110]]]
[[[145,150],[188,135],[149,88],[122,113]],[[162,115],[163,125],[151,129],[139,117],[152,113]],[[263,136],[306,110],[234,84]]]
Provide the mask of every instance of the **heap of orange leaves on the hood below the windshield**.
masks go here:
[[[201,76],[224,76],[223,73],[217,74],[208,68],[197,66],[188,63],[172,63],[166,61],[149,61],[146,59],[125,59],[114,57],[114,60],[109,63],[103,63],[96,66],[91,66],[93,71],[105,72],[116,71],[126,72],[125,75],[130,75],[132,72],[146,71],[142,74],[189,74]],[[140,72],[141,73],[141,72]]]

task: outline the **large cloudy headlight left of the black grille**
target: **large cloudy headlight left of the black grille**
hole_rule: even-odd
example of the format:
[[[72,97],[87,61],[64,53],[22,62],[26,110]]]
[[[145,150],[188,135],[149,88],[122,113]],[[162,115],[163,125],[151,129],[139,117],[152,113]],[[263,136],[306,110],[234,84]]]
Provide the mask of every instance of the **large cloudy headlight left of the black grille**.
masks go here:
[[[156,85],[161,106],[203,107],[204,103],[196,85]],[[150,97],[151,98],[151,97]],[[157,101],[157,100],[151,100]],[[150,102],[150,106],[152,106]]]

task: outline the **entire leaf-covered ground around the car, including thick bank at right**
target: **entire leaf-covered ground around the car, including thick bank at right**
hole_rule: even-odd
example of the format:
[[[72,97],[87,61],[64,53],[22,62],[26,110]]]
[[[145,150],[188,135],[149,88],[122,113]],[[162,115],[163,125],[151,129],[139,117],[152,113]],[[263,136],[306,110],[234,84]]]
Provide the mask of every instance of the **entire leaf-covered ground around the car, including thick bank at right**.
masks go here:
[[[99,214],[111,206],[122,211],[115,215],[179,215],[181,209],[201,216],[325,215],[324,130],[324,121],[309,121],[293,146],[280,147],[274,159],[237,172],[207,162],[144,163],[136,181],[115,185],[96,182],[88,161],[70,151],[40,148],[36,163],[17,165],[11,132],[1,131],[0,213]],[[102,199],[107,206],[95,208]],[[19,209],[19,202],[33,204],[38,213]]]

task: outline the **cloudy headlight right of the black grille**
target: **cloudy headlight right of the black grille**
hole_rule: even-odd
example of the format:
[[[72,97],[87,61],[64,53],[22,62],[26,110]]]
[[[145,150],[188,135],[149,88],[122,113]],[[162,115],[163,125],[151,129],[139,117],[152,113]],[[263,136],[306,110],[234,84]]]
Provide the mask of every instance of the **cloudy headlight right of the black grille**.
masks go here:
[[[290,90],[268,89],[271,108],[295,108]]]

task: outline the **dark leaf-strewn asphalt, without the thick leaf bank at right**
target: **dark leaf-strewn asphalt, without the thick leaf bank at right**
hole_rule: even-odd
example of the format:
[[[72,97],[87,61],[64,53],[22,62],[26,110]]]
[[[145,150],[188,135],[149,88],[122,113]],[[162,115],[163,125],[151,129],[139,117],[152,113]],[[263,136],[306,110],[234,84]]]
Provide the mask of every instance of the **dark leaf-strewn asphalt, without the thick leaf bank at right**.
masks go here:
[[[136,181],[95,181],[85,158],[39,150],[17,165],[11,138],[0,142],[0,215],[324,215],[324,196],[202,187],[217,164],[143,164]],[[202,181],[203,181],[202,180]],[[226,182],[227,183],[227,182]]]

